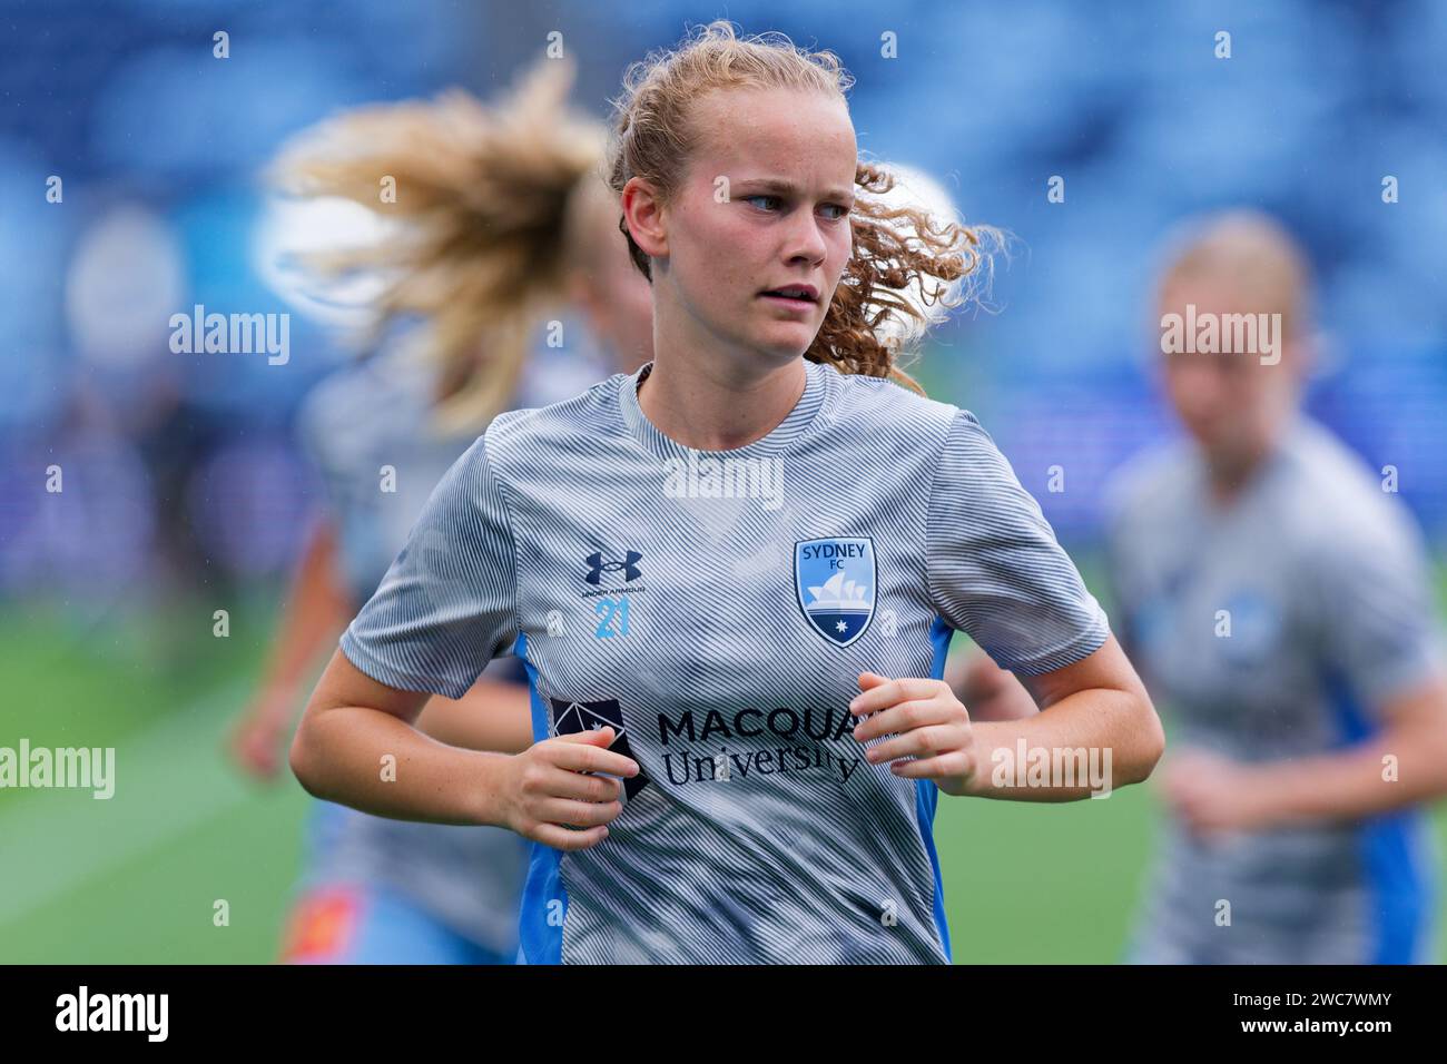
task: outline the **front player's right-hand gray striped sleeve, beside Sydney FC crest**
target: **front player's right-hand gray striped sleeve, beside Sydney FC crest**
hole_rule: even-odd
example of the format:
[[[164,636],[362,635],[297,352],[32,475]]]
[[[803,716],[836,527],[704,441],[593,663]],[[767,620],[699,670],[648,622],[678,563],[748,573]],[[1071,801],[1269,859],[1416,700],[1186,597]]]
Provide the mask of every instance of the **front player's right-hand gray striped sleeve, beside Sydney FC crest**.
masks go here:
[[[952,628],[1026,676],[1088,657],[1110,636],[1039,502],[967,410],[955,414],[930,491],[929,586]]]

